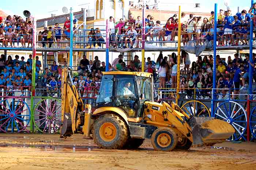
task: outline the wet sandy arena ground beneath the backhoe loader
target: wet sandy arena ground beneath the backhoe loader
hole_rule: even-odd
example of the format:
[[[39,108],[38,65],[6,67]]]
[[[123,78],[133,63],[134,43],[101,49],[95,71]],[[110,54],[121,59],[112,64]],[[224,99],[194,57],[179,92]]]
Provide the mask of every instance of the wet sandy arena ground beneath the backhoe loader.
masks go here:
[[[0,133],[0,170],[256,170],[256,143],[215,146],[159,152],[147,140],[138,150],[102,150],[82,135]]]

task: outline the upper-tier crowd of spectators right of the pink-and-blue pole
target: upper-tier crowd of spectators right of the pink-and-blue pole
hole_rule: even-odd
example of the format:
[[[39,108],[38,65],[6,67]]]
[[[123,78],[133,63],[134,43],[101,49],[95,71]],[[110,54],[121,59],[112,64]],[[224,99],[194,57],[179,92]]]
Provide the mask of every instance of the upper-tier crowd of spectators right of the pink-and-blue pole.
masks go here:
[[[133,5],[130,8],[134,8]],[[189,19],[181,13],[181,40],[183,45],[188,41],[196,41],[196,45],[200,46],[208,41],[213,43],[214,37],[214,11],[211,12],[210,18],[202,18],[201,16],[189,15]],[[247,12],[242,10],[235,15],[230,10],[219,10],[217,19],[217,42],[218,46],[234,46],[248,45],[249,40],[249,21],[253,18],[256,24],[256,3]],[[128,19],[116,20],[110,16],[110,45],[114,48],[139,48],[142,40],[142,18],[141,16],[133,16],[129,14]],[[178,35],[178,18],[174,14],[166,23],[154,20],[154,16],[147,15],[145,19],[145,33],[150,37],[151,41],[174,41]],[[155,39],[157,38],[157,39]],[[134,45],[135,44],[135,45]]]

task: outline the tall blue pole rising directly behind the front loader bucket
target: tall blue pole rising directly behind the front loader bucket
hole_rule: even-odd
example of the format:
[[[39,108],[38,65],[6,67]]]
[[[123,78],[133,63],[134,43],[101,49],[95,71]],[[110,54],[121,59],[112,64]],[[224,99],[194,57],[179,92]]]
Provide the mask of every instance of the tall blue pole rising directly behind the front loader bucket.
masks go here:
[[[213,34],[213,90],[212,90],[212,99],[211,99],[211,116],[213,116],[214,113],[214,100],[216,99],[216,45],[217,45],[217,7],[218,5],[214,5],[214,34]]]

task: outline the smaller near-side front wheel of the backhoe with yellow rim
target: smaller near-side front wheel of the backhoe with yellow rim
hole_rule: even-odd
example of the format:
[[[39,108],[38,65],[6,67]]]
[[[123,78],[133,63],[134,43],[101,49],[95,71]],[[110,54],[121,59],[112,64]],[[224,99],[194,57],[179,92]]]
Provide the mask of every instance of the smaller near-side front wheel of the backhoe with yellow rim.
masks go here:
[[[158,128],[151,136],[151,143],[157,151],[172,151],[177,145],[177,135],[173,129]]]

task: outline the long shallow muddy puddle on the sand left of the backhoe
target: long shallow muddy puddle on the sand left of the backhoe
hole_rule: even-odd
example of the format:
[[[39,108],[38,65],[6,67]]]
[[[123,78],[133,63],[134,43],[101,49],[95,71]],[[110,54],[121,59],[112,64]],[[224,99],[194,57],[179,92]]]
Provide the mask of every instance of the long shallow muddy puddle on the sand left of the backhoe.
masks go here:
[[[85,152],[91,151],[97,147],[94,146],[76,146],[74,145],[47,145],[47,144],[7,144],[0,143],[0,147],[23,147],[23,148],[39,148],[44,151],[61,151],[61,152]]]

